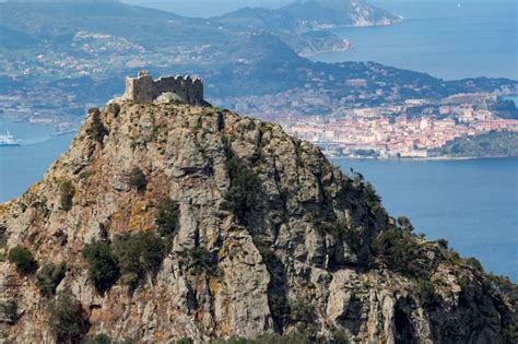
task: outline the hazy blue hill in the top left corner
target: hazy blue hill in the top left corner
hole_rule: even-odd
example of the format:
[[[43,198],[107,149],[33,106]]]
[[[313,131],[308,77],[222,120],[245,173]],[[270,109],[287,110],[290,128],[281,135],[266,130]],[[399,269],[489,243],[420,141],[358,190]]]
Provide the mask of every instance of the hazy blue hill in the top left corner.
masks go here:
[[[216,28],[176,14],[117,1],[0,3],[0,23],[36,41],[70,44],[78,31],[126,37],[150,49],[217,40]],[[223,35],[224,37],[224,35]],[[0,41],[0,47],[4,45]]]

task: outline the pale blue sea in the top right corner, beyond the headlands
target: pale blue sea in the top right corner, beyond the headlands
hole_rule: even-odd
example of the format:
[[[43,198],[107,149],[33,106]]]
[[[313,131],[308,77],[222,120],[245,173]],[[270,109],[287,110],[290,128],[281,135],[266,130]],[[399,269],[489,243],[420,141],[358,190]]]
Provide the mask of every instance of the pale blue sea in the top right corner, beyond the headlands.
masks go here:
[[[516,0],[372,2],[402,14],[405,20],[393,26],[337,29],[354,48],[313,59],[375,61],[448,80],[471,76],[518,80]]]

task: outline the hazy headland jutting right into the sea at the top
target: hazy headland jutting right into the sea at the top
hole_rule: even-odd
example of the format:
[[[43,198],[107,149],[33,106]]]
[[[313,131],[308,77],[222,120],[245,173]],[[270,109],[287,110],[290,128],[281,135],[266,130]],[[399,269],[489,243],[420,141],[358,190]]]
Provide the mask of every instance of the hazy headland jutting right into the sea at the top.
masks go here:
[[[345,50],[349,43],[330,33],[341,26],[390,25],[401,16],[365,1],[305,0],[278,10],[244,8],[212,21],[233,31],[264,31],[280,36],[299,54]]]

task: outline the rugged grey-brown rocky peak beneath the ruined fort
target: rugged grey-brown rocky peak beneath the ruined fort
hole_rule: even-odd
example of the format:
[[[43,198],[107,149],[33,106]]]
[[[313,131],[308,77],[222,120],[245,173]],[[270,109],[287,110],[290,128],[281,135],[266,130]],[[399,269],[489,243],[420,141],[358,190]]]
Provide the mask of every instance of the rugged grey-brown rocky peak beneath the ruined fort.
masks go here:
[[[22,246],[40,266],[67,264],[57,293],[81,304],[85,335],[153,343],[294,332],[323,343],[516,340],[515,303],[502,287],[388,216],[358,175],[343,175],[276,124],[163,103],[116,100],[90,111],[44,179],[0,206],[5,252]],[[128,177],[136,168],[145,177],[138,187]],[[99,293],[85,245],[156,233],[165,199],[179,218],[160,268],[137,286],[120,276]],[[200,251],[210,263],[196,265],[192,252]],[[37,274],[0,264],[3,340],[55,342],[55,296],[42,294]]]

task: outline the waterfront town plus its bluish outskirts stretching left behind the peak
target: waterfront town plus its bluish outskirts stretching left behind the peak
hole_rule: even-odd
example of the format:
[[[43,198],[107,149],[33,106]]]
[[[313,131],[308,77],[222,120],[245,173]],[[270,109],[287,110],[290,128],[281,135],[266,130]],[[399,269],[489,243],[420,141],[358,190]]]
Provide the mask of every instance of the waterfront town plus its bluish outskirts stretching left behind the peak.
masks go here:
[[[491,109],[490,104],[502,100],[498,94],[458,94],[440,100],[411,98],[374,107],[368,107],[367,98],[353,95],[333,102],[322,94],[292,91],[268,99],[240,98],[235,100],[235,110],[278,121],[291,134],[316,143],[329,156],[340,157],[429,158],[458,138],[518,132],[518,120],[502,118]],[[334,108],[326,114],[330,104]]]

